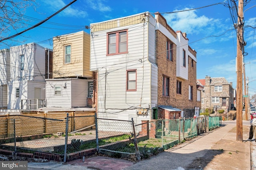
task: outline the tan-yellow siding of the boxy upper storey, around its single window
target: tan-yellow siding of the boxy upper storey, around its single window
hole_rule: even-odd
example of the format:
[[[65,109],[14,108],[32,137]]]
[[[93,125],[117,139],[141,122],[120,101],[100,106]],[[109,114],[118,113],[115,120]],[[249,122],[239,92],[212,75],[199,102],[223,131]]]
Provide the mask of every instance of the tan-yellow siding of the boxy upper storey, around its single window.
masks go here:
[[[53,38],[53,77],[90,77],[90,35],[82,32]],[[71,45],[71,63],[64,63],[65,45]]]

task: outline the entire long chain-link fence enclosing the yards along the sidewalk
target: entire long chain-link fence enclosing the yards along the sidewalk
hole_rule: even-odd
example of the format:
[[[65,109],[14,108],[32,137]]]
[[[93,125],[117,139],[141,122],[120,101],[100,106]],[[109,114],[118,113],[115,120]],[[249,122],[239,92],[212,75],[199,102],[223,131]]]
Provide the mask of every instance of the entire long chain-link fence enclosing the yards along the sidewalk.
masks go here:
[[[73,115],[73,114],[72,114]],[[58,119],[43,115],[0,117],[0,148],[14,152],[50,152],[63,155],[94,149],[107,156],[140,160],[173,147],[186,139],[220,127],[219,117],[131,121],[100,119],[95,115]]]

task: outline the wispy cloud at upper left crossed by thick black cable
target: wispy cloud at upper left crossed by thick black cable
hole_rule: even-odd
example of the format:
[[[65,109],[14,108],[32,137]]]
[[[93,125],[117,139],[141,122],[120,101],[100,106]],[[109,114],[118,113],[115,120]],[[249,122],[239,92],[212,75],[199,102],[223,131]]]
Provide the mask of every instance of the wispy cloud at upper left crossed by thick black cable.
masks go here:
[[[48,8],[52,10],[52,12],[57,12],[67,4],[63,2],[63,0],[44,0],[44,3],[48,5]],[[75,4],[75,3],[74,3]],[[59,13],[62,16],[70,16],[70,17],[78,17],[85,18],[88,14],[84,10],[79,10],[74,8],[73,4],[68,6],[62,12]]]

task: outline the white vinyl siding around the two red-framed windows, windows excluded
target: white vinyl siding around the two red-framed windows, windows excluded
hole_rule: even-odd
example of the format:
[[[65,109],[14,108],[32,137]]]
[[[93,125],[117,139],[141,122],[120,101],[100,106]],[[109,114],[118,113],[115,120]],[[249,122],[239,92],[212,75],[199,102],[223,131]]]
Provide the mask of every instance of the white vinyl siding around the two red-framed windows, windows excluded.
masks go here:
[[[157,87],[154,83],[151,88],[151,63],[146,61],[148,59],[149,43],[148,25],[150,24],[153,23],[140,23],[92,32],[94,36],[91,37],[91,44],[94,45],[91,45],[90,70],[98,71],[98,117],[122,120],[131,120],[132,117],[137,117],[136,123],[141,123],[142,119],[150,119],[150,113],[144,115],[144,117],[138,117],[135,109],[127,110],[130,106],[139,107],[139,105],[150,110],[150,97],[153,93],[151,89]],[[153,45],[155,33],[154,28],[151,28],[153,30],[150,30],[150,32],[153,35],[151,35],[152,42],[150,42],[150,45]],[[106,56],[107,33],[121,30],[128,30],[128,53]],[[138,59],[141,59],[142,62]],[[115,65],[115,67],[111,65]],[[137,70],[137,90],[126,91],[126,70],[134,69]],[[155,74],[157,76],[157,73]],[[156,93],[154,92],[155,97]]]

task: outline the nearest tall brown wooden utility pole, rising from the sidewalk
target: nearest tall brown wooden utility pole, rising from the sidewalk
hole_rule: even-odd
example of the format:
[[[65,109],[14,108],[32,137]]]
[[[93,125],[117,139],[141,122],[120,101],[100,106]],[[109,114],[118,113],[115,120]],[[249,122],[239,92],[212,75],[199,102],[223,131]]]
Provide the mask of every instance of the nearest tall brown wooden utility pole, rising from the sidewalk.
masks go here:
[[[237,20],[237,54],[236,54],[236,69],[237,69],[237,99],[236,99],[236,140],[243,141],[243,118],[242,118],[242,109],[243,109],[243,98],[242,98],[242,91],[243,91],[243,77],[242,77],[242,50],[243,50],[243,26],[244,26],[244,0],[238,0],[238,20]]]

